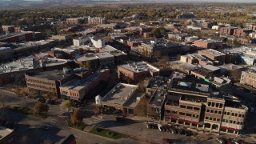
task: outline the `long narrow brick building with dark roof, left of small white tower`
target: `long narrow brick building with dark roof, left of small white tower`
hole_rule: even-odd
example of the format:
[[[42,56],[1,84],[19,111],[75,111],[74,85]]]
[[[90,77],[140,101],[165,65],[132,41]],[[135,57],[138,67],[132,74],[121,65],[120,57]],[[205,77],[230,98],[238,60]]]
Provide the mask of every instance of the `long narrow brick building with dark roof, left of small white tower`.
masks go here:
[[[62,98],[80,101],[86,98],[101,82],[106,82],[110,78],[110,70],[98,70],[94,74],[82,79],[73,79],[59,87]]]

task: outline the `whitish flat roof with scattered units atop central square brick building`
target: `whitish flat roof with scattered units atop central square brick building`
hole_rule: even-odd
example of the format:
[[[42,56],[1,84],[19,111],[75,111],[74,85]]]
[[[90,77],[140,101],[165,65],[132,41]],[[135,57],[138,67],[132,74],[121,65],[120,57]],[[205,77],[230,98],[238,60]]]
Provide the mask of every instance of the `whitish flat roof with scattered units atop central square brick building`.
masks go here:
[[[126,65],[121,65],[119,67],[122,67],[126,70],[133,71],[134,73],[139,73],[142,71],[153,71],[153,72],[158,72],[159,69],[151,66],[150,64],[146,62],[131,62]]]

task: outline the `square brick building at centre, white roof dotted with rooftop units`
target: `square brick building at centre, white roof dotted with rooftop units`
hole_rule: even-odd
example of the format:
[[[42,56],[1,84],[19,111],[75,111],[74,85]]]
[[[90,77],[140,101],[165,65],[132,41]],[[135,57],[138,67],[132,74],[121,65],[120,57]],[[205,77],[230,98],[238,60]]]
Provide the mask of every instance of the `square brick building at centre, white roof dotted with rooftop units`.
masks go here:
[[[118,66],[118,78],[129,78],[133,82],[139,82],[146,77],[158,76],[159,71],[146,62],[132,62]]]

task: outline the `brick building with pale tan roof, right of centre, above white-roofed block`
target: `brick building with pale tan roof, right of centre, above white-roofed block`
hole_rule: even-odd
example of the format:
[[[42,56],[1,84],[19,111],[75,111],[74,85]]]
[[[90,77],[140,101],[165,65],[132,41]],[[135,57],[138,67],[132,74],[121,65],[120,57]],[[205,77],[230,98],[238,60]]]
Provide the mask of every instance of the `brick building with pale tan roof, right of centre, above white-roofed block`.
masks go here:
[[[216,65],[222,65],[225,62],[226,54],[223,54],[217,50],[207,49],[207,50],[198,50],[198,54],[209,58]]]

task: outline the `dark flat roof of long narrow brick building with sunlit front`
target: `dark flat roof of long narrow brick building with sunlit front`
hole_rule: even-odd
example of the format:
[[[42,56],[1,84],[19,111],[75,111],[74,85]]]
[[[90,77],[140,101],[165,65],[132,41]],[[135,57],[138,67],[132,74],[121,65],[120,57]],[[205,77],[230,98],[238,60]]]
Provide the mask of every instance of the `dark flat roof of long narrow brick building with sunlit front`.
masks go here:
[[[98,70],[86,79],[73,79],[60,87],[66,90],[82,90],[82,88],[90,85],[91,82],[97,80],[104,72],[106,72],[106,70]]]

